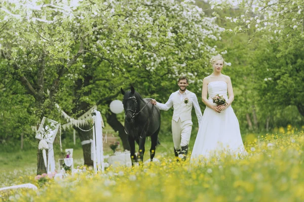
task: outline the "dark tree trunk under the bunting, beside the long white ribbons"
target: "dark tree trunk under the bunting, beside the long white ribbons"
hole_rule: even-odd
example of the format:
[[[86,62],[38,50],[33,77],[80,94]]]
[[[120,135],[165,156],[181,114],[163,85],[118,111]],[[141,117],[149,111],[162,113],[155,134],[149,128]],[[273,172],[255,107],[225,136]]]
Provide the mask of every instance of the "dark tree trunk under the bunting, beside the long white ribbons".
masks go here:
[[[91,126],[83,126],[81,127],[83,130],[89,130],[91,129]],[[74,128],[78,134],[80,140],[83,142],[85,140],[93,139],[93,130],[90,131],[82,131],[79,128]],[[87,166],[93,166],[93,161],[91,160],[91,143],[88,144],[82,144],[83,147],[83,153],[84,153],[84,163]]]

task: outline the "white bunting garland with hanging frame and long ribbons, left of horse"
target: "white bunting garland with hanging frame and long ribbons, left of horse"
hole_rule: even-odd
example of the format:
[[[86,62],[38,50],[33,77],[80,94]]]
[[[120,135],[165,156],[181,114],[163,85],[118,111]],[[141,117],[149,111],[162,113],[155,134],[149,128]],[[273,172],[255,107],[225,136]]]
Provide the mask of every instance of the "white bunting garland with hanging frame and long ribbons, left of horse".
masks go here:
[[[96,110],[96,106],[93,106],[89,111],[84,113],[78,119],[71,118],[68,116],[58,104],[55,104],[58,111],[61,113],[62,117],[68,122],[67,124],[62,125],[62,128],[70,128],[71,126],[76,126],[81,129],[81,126],[85,126],[92,123],[93,119],[93,139],[84,140],[81,142],[82,145],[91,143],[91,159],[94,162],[94,171],[95,173],[104,172],[104,157],[103,157],[103,141],[102,141],[102,128],[104,127],[103,119],[99,111]],[[32,128],[34,130],[34,128]],[[60,142],[60,151],[62,152],[62,143],[61,143],[61,124],[43,117],[42,122],[38,130],[36,130],[35,138],[40,139],[39,149],[43,150],[43,159],[44,164],[49,172],[55,171],[55,158],[53,150],[53,142],[59,130],[59,142]],[[106,138],[105,138],[106,141]],[[73,142],[75,144],[75,130],[73,131]],[[48,158],[46,155],[46,149],[48,149]]]

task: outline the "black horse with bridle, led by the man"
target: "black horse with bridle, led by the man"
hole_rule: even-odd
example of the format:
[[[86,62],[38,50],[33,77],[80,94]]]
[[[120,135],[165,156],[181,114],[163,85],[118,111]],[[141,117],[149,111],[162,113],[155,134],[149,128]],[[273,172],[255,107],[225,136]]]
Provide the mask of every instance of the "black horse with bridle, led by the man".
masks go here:
[[[158,133],[161,127],[161,114],[157,107],[150,103],[150,98],[142,98],[134,87],[125,92],[123,104],[125,109],[125,131],[130,144],[131,161],[143,162],[144,143],[146,137],[151,137],[150,159],[153,161],[155,149],[158,144]],[[135,141],[139,145],[137,157],[135,156]]]

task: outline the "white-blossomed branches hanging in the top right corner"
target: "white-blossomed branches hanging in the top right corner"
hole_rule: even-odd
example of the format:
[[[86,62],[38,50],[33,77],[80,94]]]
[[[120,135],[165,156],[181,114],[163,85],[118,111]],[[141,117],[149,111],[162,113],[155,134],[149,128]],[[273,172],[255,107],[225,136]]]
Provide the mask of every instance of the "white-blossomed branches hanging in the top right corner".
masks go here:
[[[238,17],[226,17],[227,20],[236,23],[236,28],[230,30],[231,32],[253,29],[272,42],[304,37],[304,4],[302,0],[229,0],[223,1],[223,4],[215,1],[211,3],[214,8],[233,7],[243,11],[243,15]]]

